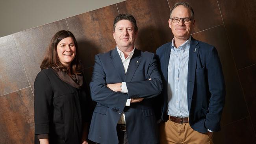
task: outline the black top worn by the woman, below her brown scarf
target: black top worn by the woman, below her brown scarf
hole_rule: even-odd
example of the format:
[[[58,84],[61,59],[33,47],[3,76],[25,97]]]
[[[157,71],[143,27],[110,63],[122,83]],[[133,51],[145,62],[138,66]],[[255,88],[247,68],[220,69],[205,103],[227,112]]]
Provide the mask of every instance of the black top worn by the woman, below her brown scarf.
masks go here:
[[[37,135],[49,135],[50,144],[78,144],[86,118],[85,83],[76,89],[65,83],[52,68],[37,74],[35,88],[35,144]]]

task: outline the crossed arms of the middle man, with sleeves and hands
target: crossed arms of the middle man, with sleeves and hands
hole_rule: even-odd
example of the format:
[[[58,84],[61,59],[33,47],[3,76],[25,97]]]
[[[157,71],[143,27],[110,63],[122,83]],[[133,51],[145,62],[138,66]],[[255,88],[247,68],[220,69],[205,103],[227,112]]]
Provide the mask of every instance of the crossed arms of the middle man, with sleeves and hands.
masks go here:
[[[152,55],[150,65],[145,70],[147,70],[148,79],[126,82],[128,94],[122,93],[121,82],[107,84],[106,73],[104,72],[101,59],[99,55],[95,55],[95,65],[90,83],[92,99],[110,108],[120,107],[122,111],[127,98],[131,98],[131,103],[134,103],[141,102],[143,98],[157,96],[161,92],[162,81],[154,55]],[[137,97],[133,98],[135,95]]]

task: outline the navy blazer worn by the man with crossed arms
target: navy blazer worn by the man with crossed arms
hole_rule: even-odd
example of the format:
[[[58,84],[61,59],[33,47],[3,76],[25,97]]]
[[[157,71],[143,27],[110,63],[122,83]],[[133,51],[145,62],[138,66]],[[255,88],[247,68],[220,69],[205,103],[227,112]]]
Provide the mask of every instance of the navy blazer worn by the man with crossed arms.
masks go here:
[[[151,80],[149,80],[151,78]],[[128,94],[114,92],[106,85],[126,82]],[[97,102],[88,138],[100,144],[118,144],[116,126],[121,113],[126,119],[126,133],[130,144],[156,144],[158,130],[153,110],[153,97],[162,89],[156,56],[135,48],[125,74],[117,49],[95,55],[90,83],[91,98]],[[125,107],[127,98],[145,98]]]

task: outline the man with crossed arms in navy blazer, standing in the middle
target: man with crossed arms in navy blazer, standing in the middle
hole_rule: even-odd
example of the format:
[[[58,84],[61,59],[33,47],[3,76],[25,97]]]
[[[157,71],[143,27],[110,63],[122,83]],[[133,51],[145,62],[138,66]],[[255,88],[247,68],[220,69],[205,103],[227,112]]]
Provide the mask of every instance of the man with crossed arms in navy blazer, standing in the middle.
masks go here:
[[[97,104],[88,138],[96,143],[158,143],[152,98],[161,92],[161,75],[156,56],[135,48],[137,30],[132,15],[118,15],[113,29],[117,47],[95,55],[90,88]]]

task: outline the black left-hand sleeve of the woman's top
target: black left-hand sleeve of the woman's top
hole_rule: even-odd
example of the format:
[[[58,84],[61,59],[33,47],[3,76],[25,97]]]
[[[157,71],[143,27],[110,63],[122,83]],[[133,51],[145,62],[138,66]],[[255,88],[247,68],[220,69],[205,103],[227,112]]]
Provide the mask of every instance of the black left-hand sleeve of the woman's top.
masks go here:
[[[52,113],[52,87],[46,74],[41,71],[35,78],[35,135],[49,133],[50,114]]]

